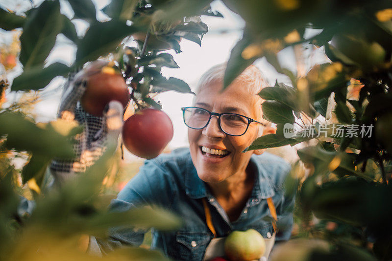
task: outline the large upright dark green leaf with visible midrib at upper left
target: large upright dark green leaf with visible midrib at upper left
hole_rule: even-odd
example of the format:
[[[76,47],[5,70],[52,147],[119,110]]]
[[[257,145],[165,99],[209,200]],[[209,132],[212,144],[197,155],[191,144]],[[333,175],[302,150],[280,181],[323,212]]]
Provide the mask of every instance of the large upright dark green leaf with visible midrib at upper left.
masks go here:
[[[44,1],[33,9],[23,26],[19,60],[25,69],[43,66],[63,28],[58,1]]]

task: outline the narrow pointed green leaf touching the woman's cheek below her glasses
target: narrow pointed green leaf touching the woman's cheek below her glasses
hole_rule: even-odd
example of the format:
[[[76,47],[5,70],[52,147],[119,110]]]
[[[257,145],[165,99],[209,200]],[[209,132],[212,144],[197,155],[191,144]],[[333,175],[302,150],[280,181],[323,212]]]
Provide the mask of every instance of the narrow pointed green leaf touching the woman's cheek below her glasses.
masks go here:
[[[310,138],[308,138],[310,139]],[[253,151],[253,150],[261,150],[267,148],[276,148],[286,145],[294,145],[299,142],[307,140],[306,138],[290,138],[286,139],[285,137],[278,134],[267,134],[261,137],[258,137],[253,143],[247,147],[243,152]]]

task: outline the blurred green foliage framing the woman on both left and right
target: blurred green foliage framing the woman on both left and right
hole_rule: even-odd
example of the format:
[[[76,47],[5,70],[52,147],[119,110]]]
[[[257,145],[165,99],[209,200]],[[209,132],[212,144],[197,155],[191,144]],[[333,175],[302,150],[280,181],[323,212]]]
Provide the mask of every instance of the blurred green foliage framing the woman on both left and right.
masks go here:
[[[90,24],[84,36],[76,34],[73,19],[60,13],[58,0],[43,1],[25,16],[0,9],[2,29],[23,28],[19,60],[24,72],[15,79],[12,90],[42,89],[55,76],[111,54],[133,90],[136,105],[160,108],[151,93],[191,92],[184,81],[161,74],[163,66],[177,67],[172,56],[161,51],[180,52],[181,38],[200,44],[208,27],[198,15],[221,17],[210,10],[210,0],[119,0],[102,10],[111,20],[100,22],[91,0],[68,2],[73,19]],[[246,22],[244,36],[231,52],[224,86],[261,57],[287,75],[292,85],[276,83],[260,93],[266,100],[264,118],[277,124],[277,132],[258,138],[246,150],[306,145],[298,151],[301,162],[293,166],[286,186],[297,195],[295,217],[302,227],[295,237],[320,241],[289,242],[277,251],[285,255],[274,260],[391,260],[391,0],[223,2]],[[307,37],[309,29],[320,30]],[[60,33],[76,44],[76,60],[70,67],[59,63],[47,66],[45,61]],[[123,41],[130,35],[138,47]],[[280,51],[298,49],[302,44],[323,48],[331,63],[316,65],[305,75],[279,63]],[[72,157],[70,137],[80,129],[75,127],[64,135],[50,124],[37,126],[12,109],[0,112],[0,123],[0,160],[4,163],[0,173],[0,260],[95,259],[80,250],[86,234],[104,236],[106,228],[124,224],[162,229],[178,224],[171,214],[157,209],[121,215],[106,212],[102,202],[108,200],[102,198],[102,181],[113,184],[115,179],[108,167],[113,165],[114,145],[86,174],[40,194],[45,166],[53,156]],[[299,126],[299,134],[285,137],[287,123]],[[358,133],[338,137],[328,132],[326,138],[320,138],[318,128],[312,130],[312,136],[301,135],[307,125],[319,127],[323,123],[330,129],[342,124],[344,133],[349,125],[374,129],[365,137],[358,137]],[[17,192],[22,184],[15,179],[20,174],[13,167],[10,152],[30,156],[22,182],[35,195],[31,216],[21,218],[17,213]],[[142,248],[118,250],[105,259],[165,260]]]

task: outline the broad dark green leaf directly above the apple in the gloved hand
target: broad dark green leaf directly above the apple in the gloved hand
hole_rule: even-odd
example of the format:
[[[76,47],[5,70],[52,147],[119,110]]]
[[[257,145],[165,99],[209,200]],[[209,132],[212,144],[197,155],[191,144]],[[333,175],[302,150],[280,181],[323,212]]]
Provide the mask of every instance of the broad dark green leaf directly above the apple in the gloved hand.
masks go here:
[[[126,36],[137,31],[136,27],[119,20],[93,24],[78,43],[76,64],[83,65],[114,51]]]

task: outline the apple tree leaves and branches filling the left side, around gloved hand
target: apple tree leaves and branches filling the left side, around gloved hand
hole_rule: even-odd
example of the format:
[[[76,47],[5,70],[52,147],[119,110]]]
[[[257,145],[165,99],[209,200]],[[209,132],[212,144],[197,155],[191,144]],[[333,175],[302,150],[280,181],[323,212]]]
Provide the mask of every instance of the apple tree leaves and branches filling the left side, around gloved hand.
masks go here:
[[[74,12],[72,18],[60,12],[59,0],[44,0],[23,14],[4,9],[0,4],[0,28],[21,31],[18,60],[23,73],[13,80],[11,91],[40,92],[54,77],[67,77],[86,63],[104,59],[109,63],[107,67],[120,73],[136,109],[150,106],[160,109],[161,104],[153,99],[156,93],[191,92],[183,80],[162,75],[162,67],[178,67],[165,51],[181,52],[182,40],[200,45],[208,31],[200,16],[221,17],[211,11],[210,1],[206,0],[114,0],[101,10],[110,19],[98,21],[91,0],[67,2]],[[88,22],[83,35],[76,32],[75,19]],[[47,58],[59,34],[77,47],[71,66],[60,62],[48,64]],[[136,47],[129,45],[133,40]],[[1,80],[0,98],[4,98],[9,84],[6,79]],[[107,228],[119,225],[161,230],[179,225],[177,217],[155,208],[116,215],[107,211],[108,200],[102,193],[102,184],[113,173],[113,165],[119,158],[117,139],[108,141],[103,155],[84,174],[47,190],[49,163],[53,158],[73,159],[73,142],[82,130],[82,126],[62,119],[36,123],[34,117],[15,104],[0,109],[1,261],[92,260],[95,258],[85,253],[88,235],[104,238]],[[13,166],[17,155],[23,155],[27,161],[21,173]],[[34,201],[21,197],[26,196],[26,190]],[[114,251],[104,259],[166,260],[159,252],[144,248]]]

